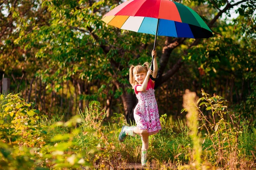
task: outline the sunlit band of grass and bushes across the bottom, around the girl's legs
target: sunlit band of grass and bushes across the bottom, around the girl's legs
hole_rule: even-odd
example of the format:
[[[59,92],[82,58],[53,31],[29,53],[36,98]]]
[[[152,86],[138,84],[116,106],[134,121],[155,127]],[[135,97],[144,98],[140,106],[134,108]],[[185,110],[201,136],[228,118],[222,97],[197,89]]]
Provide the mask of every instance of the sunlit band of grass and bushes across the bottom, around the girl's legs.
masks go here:
[[[202,98],[187,92],[187,120],[150,136],[148,161],[154,169],[255,168],[256,129],[227,110],[220,96]],[[122,114],[108,122],[93,101],[67,122],[49,119],[18,94],[0,95],[0,167],[3,169],[122,169],[140,163],[140,136],[120,143]]]

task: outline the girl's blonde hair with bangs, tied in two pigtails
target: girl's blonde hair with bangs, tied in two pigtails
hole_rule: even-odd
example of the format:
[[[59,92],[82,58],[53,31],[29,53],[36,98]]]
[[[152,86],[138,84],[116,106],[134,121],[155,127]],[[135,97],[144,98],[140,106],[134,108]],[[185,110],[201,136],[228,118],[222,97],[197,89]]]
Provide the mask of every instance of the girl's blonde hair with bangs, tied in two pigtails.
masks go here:
[[[143,65],[131,65],[130,69],[129,69],[129,82],[131,83],[132,88],[134,88],[134,85],[139,84],[135,78],[134,75],[135,74],[139,74],[139,73],[146,73],[149,69],[149,63],[145,62]]]

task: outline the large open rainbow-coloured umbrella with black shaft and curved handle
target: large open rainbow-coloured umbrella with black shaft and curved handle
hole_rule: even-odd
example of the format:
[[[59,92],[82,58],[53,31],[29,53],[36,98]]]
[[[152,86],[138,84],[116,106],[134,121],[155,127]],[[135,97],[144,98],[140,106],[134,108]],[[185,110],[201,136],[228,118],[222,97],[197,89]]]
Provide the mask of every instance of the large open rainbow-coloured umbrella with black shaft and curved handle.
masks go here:
[[[195,11],[170,0],[128,0],[105,14],[102,21],[120,29],[155,35],[154,50],[157,36],[195,39],[213,36]],[[152,56],[151,70],[153,60]],[[151,79],[156,80],[152,76]]]

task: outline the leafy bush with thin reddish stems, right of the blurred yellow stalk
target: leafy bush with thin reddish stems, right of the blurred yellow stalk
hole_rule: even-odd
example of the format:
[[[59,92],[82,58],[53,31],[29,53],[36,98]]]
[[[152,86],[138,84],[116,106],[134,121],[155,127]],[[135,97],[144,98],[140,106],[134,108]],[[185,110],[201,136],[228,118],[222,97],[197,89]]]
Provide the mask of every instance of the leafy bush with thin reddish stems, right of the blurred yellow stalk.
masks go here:
[[[241,136],[247,134],[247,127],[249,126],[247,121],[241,121],[237,118],[234,113],[227,110],[227,106],[224,105],[223,97],[214,95],[209,97],[209,94],[202,90],[202,97],[198,99],[199,103],[198,119],[201,123],[199,126],[204,134],[204,141],[210,141],[210,145],[205,144],[204,150],[207,150],[204,156],[208,157],[208,160],[214,160],[215,166],[221,166],[223,168],[236,168],[240,166],[241,168],[248,168],[250,164],[246,162],[241,162],[240,160],[245,159],[244,152],[255,153],[256,148],[250,147],[239,147],[244,146]],[[204,114],[200,108],[205,107],[206,111],[210,111]],[[203,108],[204,108],[203,107]],[[205,132],[204,132],[205,131]],[[249,154],[252,158],[253,155]],[[212,157],[212,158],[211,158]],[[218,158],[218,159],[216,159]],[[213,162],[211,162],[213,163]]]

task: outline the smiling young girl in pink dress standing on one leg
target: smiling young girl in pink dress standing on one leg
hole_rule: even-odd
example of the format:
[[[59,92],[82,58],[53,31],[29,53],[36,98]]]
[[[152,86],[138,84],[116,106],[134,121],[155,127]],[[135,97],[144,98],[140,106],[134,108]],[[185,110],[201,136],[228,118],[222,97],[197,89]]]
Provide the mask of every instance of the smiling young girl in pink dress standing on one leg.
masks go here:
[[[119,141],[123,142],[127,135],[135,136],[139,134],[142,140],[141,148],[141,164],[146,165],[146,157],[148,150],[148,136],[155,134],[161,130],[157,101],[154,95],[154,81],[149,78],[157,76],[157,59],[156,51],[152,51],[154,56],[154,71],[149,68],[149,63],[143,65],[131,65],[129,69],[129,81],[135,91],[138,104],[134,108],[134,119],[137,126],[123,126],[119,133]]]

